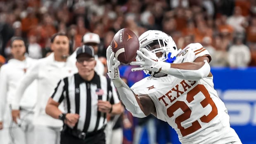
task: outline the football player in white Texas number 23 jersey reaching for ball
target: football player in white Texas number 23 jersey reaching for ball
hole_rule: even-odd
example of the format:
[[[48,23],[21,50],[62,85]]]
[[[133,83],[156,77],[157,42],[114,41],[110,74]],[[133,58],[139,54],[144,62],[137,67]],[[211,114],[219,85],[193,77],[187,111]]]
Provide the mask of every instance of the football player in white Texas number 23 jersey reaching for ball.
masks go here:
[[[183,50],[162,31],[139,37],[140,50],[131,65],[151,75],[129,88],[119,77],[120,62],[107,50],[108,75],[133,116],[152,113],[178,133],[182,144],[242,144],[230,127],[227,109],[213,88],[209,52],[199,43]]]

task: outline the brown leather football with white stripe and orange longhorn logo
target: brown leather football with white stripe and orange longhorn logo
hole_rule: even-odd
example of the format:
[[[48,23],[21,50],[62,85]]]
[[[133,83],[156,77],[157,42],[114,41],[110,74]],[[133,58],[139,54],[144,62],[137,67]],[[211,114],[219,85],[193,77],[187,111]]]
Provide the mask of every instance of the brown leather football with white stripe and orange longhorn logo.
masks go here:
[[[116,59],[122,64],[129,64],[135,60],[136,51],[139,50],[139,39],[128,28],[119,30],[111,41],[111,49],[115,53]]]

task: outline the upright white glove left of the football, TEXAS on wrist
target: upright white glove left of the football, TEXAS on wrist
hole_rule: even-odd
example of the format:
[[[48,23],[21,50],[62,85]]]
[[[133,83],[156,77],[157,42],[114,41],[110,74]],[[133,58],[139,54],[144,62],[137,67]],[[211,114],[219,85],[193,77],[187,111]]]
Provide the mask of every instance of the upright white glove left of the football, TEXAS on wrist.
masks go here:
[[[111,46],[107,48],[107,68],[108,76],[110,79],[115,80],[120,78],[118,66],[120,62],[115,58],[115,53],[112,51]]]

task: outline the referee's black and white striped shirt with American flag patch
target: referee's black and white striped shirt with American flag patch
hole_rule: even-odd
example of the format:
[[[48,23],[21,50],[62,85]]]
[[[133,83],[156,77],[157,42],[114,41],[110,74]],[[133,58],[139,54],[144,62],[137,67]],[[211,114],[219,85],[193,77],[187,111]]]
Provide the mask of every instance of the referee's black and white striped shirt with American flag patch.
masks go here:
[[[103,93],[102,93],[103,92]],[[65,113],[79,114],[78,123],[73,130],[95,132],[102,129],[106,123],[106,113],[97,110],[98,100],[119,103],[113,82],[105,76],[95,73],[91,81],[85,81],[76,73],[59,81],[52,99],[64,102]]]

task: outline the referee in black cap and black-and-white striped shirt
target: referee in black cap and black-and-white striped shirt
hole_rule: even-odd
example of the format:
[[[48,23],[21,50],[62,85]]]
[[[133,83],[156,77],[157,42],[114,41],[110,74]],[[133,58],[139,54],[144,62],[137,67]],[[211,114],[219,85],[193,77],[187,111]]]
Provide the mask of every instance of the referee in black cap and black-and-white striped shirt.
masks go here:
[[[64,121],[61,144],[105,144],[106,114],[120,114],[123,108],[114,84],[94,71],[93,48],[83,45],[76,54],[78,73],[59,81],[45,111]],[[64,113],[58,109],[61,102]]]

